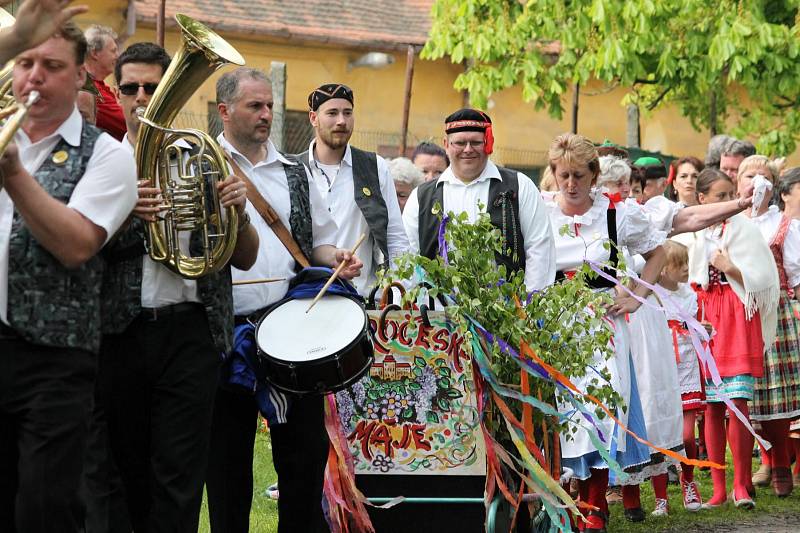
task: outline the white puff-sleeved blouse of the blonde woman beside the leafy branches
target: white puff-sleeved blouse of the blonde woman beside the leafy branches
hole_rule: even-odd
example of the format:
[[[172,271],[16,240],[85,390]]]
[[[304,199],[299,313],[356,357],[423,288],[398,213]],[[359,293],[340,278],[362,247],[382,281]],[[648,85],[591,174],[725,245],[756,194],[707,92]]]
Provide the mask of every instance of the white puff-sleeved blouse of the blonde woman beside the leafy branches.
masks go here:
[[[606,212],[610,202],[598,191],[592,194],[594,201],[586,213],[569,216],[561,212],[556,194],[542,193],[553,228],[558,270],[575,270],[587,260],[597,263],[609,260],[610,252],[604,244],[608,241]],[[632,255],[646,254],[666,240],[666,232],[654,227],[642,206],[618,202],[616,210],[618,247],[627,248]],[[570,233],[561,235],[564,225]]]

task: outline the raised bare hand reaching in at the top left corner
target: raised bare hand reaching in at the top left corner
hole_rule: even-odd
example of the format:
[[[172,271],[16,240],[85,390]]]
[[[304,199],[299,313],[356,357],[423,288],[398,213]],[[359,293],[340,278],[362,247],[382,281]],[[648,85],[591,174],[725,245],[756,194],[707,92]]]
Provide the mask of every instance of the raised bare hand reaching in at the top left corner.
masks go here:
[[[65,21],[89,10],[85,5],[70,7],[71,3],[72,0],[25,0],[17,10],[16,23],[0,32],[0,64],[40,45]]]

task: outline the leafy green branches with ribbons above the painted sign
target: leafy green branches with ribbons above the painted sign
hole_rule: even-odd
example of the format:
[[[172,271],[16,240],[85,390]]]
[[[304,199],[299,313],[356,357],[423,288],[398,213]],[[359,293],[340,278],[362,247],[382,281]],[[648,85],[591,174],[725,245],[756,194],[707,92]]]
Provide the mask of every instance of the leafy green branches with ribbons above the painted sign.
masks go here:
[[[445,265],[441,258],[407,255],[397,260],[396,276],[415,279],[415,273],[421,269],[425,281],[437,292],[457,299],[458,305],[448,307],[446,313],[448,320],[464,337],[465,349],[471,346],[471,332],[466,323],[469,316],[515,349],[519,349],[524,340],[546,363],[573,378],[584,376],[590,366],[597,365],[598,360],[611,356],[611,331],[602,320],[602,313],[593,311],[603,309],[610,297],[588,288],[586,280],[595,276],[591,269],[584,267],[572,280],[565,280],[528,298],[524,275],[520,272],[508,275],[504,268],[495,265],[495,251],[501,249],[502,239],[488,215],[480,215],[474,224],[468,223],[463,213],[458,216],[449,213],[448,216],[449,264]],[[569,231],[569,228],[565,226],[562,230]],[[403,303],[416,302],[423,296],[423,290],[418,286],[409,290]],[[510,387],[519,388],[518,363],[497,344],[489,346],[489,349],[491,365],[498,378]],[[414,361],[415,373],[422,373],[421,363],[424,361]],[[434,405],[446,410],[461,398],[461,393],[453,387],[453,377],[443,360],[435,365],[434,375],[438,389]],[[552,382],[534,376],[530,381],[534,394],[540,395],[544,401],[555,401]],[[619,396],[608,382],[596,385],[593,390],[606,405],[612,408],[620,405]],[[521,405],[511,402],[510,407],[518,415],[521,413]],[[544,419],[538,412],[535,421],[537,424],[545,422],[559,431],[567,429],[564,424]],[[493,427],[499,433],[506,431],[503,425],[495,424]]]

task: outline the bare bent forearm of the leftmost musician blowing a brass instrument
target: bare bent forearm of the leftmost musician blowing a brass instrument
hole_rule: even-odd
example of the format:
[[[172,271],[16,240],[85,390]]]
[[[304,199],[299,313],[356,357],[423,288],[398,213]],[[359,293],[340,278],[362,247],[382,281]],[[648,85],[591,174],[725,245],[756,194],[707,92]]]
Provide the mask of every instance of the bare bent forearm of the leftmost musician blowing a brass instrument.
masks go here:
[[[0,174],[33,237],[62,265],[78,268],[103,246],[106,230],[47,194],[20,164],[16,145],[0,159]]]

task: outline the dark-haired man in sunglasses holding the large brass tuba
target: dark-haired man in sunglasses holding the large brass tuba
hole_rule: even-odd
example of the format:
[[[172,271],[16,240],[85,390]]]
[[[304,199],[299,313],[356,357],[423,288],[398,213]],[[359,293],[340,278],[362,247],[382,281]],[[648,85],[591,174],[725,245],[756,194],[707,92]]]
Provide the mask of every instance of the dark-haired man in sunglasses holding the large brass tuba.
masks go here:
[[[128,128],[123,146],[130,153],[143,127],[137,110],[148,105],[169,63],[164,49],[152,43],[131,45],[117,61]],[[180,155],[164,162],[173,173],[182,166],[180,158],[198,149],[183,139],[175,146]],[[165,206],[160,189],[139,185],[134,217],[106,253],[98,403],[106,410],[134,531],[197,531],[219,364],[233,339],[230,267],[253,265],[258,235],[244,211],[245,185],[229,176],[218,190],[222,207],[235,206],[239,214],[230,263],[185,279],[146,252],[145,222]],[[196,248],[200,234],[182,232],[181,248]]]

